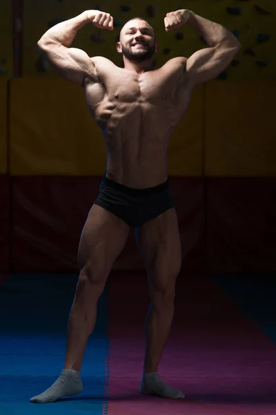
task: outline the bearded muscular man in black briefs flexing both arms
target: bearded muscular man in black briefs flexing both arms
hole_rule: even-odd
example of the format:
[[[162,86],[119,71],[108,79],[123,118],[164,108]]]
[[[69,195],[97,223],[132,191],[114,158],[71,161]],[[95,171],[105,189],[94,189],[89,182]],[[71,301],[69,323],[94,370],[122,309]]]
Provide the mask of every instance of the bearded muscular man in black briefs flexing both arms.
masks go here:
[[[175,57],[153,70],[155,31],[144,19],[135,18],[121,29],[117,51],[123,55],[124,68],[119,68],[106,57],[88,57],[82,50],[70,48],[77,31],[88,23],[113,29],[108,13],[88,10],[50,28],[38,42],[57,73],[86,92],[88,107],[106,140],[108,163],[99,197],[81,234],[80,274],[68,322],[65,365],[56,382],[31,402],[55,402],[81,391],[81,363],[95,326],[97,301],[130,227],[136,231],[151,301],[139,391],[184,398],[157,374],[172,323],[175,282],[181,267],[166,152],[193,87],[217,77],[239,52],[240,44],[226,28],[194,12],[170,12],[164,19],[166,31],[189,24],[204,35],[208,48],[188,59]]]

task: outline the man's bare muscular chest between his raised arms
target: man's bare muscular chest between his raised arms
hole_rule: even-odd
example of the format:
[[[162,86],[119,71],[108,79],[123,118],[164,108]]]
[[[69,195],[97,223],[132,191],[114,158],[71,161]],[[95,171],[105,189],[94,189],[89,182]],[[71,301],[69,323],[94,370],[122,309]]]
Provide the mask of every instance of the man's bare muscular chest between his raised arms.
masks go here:
[[[141,109],[150,114],[174,111],[177,116],[186,107],[188,90],[181,73],[154,71],[139,76],[118,71],[104,77],[102,84],[90,86],[86,97],[97,119]]]

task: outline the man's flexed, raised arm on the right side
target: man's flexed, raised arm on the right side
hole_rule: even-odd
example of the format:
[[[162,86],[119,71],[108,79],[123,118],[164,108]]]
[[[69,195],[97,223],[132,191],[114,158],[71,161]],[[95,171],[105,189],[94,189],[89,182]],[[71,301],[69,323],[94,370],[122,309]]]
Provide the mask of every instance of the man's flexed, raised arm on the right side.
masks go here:
[[[186,61],[186,72],[190,75],[191,84],[201,84],[213,80],[228,67],[241,44],[228,29],[196,15],[190,10],[177,10],[167,13],[165,19],[166,31],[175,30],[189,24],[203,35],[208,48],[195,52]]]

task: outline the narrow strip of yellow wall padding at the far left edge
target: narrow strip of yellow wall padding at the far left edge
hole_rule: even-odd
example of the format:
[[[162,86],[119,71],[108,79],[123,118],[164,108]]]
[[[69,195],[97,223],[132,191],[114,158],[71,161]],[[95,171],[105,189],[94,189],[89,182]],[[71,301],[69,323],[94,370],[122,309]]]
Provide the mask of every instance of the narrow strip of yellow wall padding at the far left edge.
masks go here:
[[[0,80],[0,174],[7,173],[7,93],[8,80]]]

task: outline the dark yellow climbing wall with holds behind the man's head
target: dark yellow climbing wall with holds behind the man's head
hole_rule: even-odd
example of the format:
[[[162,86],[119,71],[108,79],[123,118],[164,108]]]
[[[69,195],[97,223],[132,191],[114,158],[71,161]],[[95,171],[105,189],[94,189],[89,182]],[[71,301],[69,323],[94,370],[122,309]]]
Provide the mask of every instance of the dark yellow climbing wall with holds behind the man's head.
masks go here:
[[[164,17],[167,12],[186,7],[197,14],[216,21],[231,30],[242,42],[242,50],[221,80],[251,80],[274,78],[276,74],[275,14],[276,2],[273,0],[187,0],[181,6],[178,0],[169,3],[162,1],[132,3],[119,1],[89,0],[25,0],[23,31],[23,75],[25,77],[55,77],[48,64],[41,59],[37,41],[50,26],[59,21],[79,15],[92,8],[110,12],[115,19],[115,30],[99,30],[92,24],[82,28],[73,47],[86,50],[88,55],[103,55],[121,66],[121,55],[117,53],[121,26],[132,17],[143,17],[155,28],[159,51],[155,55],[157,67],[175,56],[189,57],[196,50],[206,47],[197,30],[185,26],[180,30],[166,33]]]

